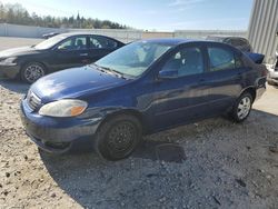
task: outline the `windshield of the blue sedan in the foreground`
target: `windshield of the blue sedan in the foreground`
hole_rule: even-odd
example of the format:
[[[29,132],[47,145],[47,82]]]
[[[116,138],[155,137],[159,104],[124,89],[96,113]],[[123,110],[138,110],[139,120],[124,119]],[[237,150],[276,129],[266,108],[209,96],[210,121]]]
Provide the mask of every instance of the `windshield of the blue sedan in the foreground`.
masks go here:
[[[97,66],[127,74],[141,76],[171,44],[140,41],[130,43],[96,62]]]

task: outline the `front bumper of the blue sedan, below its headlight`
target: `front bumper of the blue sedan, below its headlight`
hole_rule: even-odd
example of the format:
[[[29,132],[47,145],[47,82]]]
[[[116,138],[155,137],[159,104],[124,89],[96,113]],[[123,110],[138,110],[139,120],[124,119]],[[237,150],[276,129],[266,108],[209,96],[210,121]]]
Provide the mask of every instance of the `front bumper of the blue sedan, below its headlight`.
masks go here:
[[[100,119],[54,118],[31,111],[27,100],[21,102],[21,120],[27,135],[42,150],[52,153],[69,151],[73,145],[93,139]]]

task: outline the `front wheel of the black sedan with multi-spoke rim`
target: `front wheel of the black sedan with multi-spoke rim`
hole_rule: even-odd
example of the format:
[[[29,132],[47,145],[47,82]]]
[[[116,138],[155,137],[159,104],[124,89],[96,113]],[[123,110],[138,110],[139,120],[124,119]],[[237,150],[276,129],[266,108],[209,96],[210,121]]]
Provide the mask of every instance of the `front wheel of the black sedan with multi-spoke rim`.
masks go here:
[[[33,83],[39,78],[47,73],[47,69],[43,64],[39,62],[27,63],[20,71],[21,80],[27,83]]]

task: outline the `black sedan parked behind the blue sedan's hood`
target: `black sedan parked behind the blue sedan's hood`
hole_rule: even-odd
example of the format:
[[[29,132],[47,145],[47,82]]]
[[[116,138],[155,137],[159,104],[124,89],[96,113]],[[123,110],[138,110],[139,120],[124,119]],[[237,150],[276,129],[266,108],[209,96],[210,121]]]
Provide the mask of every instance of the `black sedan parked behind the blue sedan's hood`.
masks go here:
[[[0,74],[32,83],[47,73],[99,60],[125,43],[91,33],[62,33],[36,46],[0,51]]]

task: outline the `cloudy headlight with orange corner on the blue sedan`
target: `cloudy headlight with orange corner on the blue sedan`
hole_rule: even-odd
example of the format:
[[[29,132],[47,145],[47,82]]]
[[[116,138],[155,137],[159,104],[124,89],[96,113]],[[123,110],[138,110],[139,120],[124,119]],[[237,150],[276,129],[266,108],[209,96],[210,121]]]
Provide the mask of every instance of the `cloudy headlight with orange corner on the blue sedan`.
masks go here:
[[[51,117],[75,117],[81,115],[87,107],[88,103],[86,101],[63,99],[42,106],[39,110],[39,115]]]

